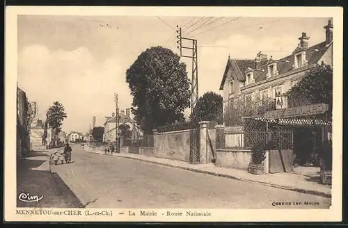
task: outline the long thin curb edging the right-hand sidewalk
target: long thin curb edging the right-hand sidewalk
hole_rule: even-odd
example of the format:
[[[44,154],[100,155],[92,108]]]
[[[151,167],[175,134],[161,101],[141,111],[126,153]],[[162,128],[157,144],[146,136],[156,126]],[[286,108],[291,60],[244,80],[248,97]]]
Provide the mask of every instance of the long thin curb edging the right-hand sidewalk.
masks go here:
[[[133,157],[122,156],[122,155],[114,155],[114,156],[120,156],[122,158],[129,158],[129,159],[133,159],[133,160],[137,160],[137,161],[145,161],[145,162],[148,162],[148,163],[155,163],[157,165],[164,165],[164,166],[168,166],[168,167],[172,167],[172,168],[180,168],[182,170],[188,170],[188,171],[192,171],[192,172],[199,172],[199,173],[209,174],[209,175],[217,176],[217,177],[226,177],[228,179],[235,179],[235,180],[238,180],[238,181],[246,181],[246,182],[249,182],[249,183],[261,184],[263,186],[269,186],[269,187],[272,187],[272,188],[280,188],[280,189],[283,189],[283,190],[292,190],[292,191],[297,192],[297,193],[304,193],[304,194],[308,194],[308,195],[317,195],[317,196],[321,196],[321,197],[331,198],[331,193],[324,193],[324,192],[320,192],[320,191],[317,191],[317,190],[308,190],[308,189],[303,189],[303,188],[292,188],[292,187],[287,187],[287,186],[279,186],[277,184],[269,184],[269,183],[265,183],[265,182],[262,182],[262,181],[252,181],[252,180],[248,180],[248,179],[242,179],[242,178],[239,178],[239,177],[233,177],[233,176],[231,176],[229,174],[219,174],[219,173],[216,173],[216,172],[210,172],[210,171],[206,171],[206,170],[198,170],[198,169],[195,169],[195,168],[187,168],[187,167],[171,165],[171,164],[166,164],[166,163],[159,163],[157,161],[148,161],[148,160],[144,160],[144,159],[141,159],[141,158],[133,158]]]

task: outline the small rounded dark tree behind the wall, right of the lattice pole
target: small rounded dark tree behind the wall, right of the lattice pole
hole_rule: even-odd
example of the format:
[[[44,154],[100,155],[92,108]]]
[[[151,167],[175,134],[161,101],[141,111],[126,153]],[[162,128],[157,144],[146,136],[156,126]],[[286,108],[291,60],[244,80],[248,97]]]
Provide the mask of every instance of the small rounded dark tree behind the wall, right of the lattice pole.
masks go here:
[[[219,124],[222,124],[222,112],[222,97],[215,92],[205,92],[194,110],[198,122],[214,120]]]

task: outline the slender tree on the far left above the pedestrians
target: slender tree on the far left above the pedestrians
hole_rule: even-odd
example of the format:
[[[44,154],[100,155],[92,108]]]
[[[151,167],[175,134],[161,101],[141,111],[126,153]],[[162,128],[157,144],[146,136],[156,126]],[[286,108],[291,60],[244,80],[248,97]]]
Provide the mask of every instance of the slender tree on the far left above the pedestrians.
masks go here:
[[[63,104],[59,101],[54,101],[53,106],[48,108],[46,115],[49,126],[52,127],[55,135],[58,135],[58,133],[61,132],[63,120],[68,117],[67,113],[65,113]]]

